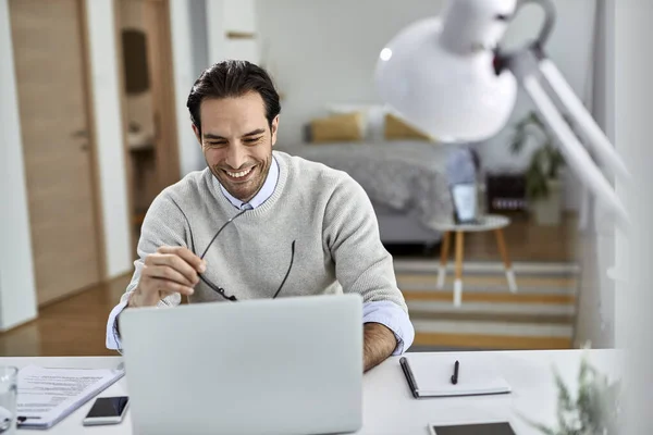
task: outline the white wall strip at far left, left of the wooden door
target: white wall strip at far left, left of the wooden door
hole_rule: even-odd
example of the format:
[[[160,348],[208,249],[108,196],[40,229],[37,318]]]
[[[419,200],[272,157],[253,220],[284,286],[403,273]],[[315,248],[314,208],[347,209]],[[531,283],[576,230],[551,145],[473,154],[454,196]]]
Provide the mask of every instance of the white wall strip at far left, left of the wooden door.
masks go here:
[[[0,331],[4,331],[37,314],[8,0],[0,0]]]

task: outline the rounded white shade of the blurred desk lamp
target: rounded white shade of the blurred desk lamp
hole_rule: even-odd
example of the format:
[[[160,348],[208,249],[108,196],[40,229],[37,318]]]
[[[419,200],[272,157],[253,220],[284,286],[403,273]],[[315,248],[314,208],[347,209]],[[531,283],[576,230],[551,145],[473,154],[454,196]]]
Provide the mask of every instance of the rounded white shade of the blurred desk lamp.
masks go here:
[[[486,139],[508,122],[515,107],[517,80],[507,70],[496,74],[494,52],[488,48],[503,35],[505,23],[495,18],[500,11],[490,11],[483,27],[484,17],[470,13],[485,12],[470,4],[479,1],[454,0],[443,18],[409,25],[377,61],[381,98],[406,122],[441,141]]]

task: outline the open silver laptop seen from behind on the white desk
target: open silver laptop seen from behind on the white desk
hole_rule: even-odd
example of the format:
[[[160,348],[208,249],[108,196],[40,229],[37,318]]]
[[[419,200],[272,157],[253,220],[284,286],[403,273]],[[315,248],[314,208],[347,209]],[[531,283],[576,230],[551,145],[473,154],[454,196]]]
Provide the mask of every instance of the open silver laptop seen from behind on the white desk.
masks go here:
[[[134,433],[362,426],[359,295],[136,308],[119,319]]]

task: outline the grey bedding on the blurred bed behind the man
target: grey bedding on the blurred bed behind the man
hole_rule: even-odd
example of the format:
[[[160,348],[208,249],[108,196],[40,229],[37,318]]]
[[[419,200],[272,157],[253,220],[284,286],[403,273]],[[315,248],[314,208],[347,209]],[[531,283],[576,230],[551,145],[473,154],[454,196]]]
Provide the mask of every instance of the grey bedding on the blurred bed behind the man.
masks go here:
[[[345,171],[371,201],[417,219],[428,228],[451,222],[447,149],[423,141],[281,145],[275,149]]]

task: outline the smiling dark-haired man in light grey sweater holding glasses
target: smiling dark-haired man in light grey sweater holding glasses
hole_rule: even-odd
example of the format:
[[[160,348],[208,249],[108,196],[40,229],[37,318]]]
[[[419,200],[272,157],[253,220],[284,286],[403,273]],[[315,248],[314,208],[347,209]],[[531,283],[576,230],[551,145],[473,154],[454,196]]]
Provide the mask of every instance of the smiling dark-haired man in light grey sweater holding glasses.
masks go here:
[[[208,167],[152,201],[107,347],[120,349],[125,308],[355,291],[365,371],[404,352],[415,332],[371,202],[346,173],[272,151],[281,107],[268,74],[214,64],[187,107]]]

